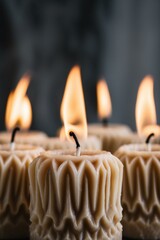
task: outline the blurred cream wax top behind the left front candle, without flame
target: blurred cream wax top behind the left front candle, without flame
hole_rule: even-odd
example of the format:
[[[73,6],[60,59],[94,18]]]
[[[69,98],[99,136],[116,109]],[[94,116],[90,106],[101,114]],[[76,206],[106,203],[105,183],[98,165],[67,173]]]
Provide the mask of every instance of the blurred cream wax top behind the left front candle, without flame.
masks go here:
[[[0,132],[0,144],[9,143],[11,139],[11,132]],[[40,131],[20,131],[16,133],[15,142],[20,144],[31,144],[34,146],[40,145],[47,135]]]

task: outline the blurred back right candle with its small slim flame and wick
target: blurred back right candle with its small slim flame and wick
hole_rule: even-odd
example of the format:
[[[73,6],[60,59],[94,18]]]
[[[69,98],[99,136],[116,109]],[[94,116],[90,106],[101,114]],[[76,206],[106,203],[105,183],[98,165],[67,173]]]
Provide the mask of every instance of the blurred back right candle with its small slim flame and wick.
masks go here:
[[[102,149],[114,153],[121,145],[139,142],[141,139],[123,124],[108,124],[112,113],[111,98],[107,83],[100,80],[97,84],[98,115],[101,124],[89,124],[90,136],[97,136],[102,141]]]

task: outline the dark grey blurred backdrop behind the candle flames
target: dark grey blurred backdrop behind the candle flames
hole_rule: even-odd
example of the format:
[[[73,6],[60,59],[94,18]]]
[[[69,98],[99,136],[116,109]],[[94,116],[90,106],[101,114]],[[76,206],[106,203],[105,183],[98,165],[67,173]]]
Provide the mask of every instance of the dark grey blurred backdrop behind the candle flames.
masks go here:
[[[32,129],[53,135],[71,67],[81,66],[88,122],[98,121],[96,82],[104,77],[112,122],[135,129],[135,102],[146,74],[155,79],[160,118],[159,0],[0,0],[0,130],[9,92],[28,70]]]

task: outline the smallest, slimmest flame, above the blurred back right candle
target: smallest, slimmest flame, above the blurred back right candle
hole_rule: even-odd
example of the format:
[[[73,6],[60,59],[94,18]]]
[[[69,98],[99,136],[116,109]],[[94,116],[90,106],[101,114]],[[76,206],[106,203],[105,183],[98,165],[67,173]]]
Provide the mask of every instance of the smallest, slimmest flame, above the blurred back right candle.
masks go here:
[[[108,85],[105,80],[100,80],[97,83],[97,104],[98,115],[100,119],[108,118],[111,116],[112,103]]]

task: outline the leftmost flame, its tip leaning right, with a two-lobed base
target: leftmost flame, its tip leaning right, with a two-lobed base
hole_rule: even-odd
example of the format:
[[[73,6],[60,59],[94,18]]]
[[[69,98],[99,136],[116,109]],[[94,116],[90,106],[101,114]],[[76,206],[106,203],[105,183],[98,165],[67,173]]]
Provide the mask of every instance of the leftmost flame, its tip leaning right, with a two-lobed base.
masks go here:
[[[25,74],[15,90],[8,97],[5,123],[7,129],[18,125],[21,129],[28,129],[32,121],[32,108],[26,92],[30,83],[30,76]]]

